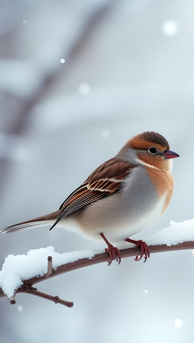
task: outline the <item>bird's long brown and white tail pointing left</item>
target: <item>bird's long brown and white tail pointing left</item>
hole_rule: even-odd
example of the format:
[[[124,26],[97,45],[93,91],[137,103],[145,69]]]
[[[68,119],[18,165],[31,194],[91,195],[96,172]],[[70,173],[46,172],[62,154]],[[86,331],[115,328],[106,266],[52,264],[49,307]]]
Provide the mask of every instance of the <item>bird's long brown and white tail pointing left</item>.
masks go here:
[[[43,225],[52,225],[53,221],[55,221],[58,216],[60,215],[61,210],[58,210],[56,212],[44,215],[42,217],[34,218],[31,220],[28,220],[26,222],[22,222],[19,224],[15,224],[12,226],[8,226],[5,229],[1,230],[0,232],[3,233],[10,233],[10,232],[18,232],[22,230],[28,230],[31,229],[32,227],[38,227],[38,226],[43,226]]]

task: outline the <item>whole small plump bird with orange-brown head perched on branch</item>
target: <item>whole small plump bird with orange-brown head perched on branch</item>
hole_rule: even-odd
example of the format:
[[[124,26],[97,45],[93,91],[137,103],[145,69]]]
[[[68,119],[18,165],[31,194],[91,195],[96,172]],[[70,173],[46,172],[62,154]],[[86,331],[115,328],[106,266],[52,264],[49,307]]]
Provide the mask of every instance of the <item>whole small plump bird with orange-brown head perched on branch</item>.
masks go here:
[[[143,132],[131,138],[118,154],[99,166],[48,215],[9,226],[10,233],[42,225],[65,227],[91,240],[103,238],[108,245],[109,265],[120,251],[111,243],[126,240],[141,247],[144,262],[148,245],[128,237],[151,227],[164,214],[173,194],[171,158],[179,157],[157,132]],[[111,243],[110,243],[111,242]]]

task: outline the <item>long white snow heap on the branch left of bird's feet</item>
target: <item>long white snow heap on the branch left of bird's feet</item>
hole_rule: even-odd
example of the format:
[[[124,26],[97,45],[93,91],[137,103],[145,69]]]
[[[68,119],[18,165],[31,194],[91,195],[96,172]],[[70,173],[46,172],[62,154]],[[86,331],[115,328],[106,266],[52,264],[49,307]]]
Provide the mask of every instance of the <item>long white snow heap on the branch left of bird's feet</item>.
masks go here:
[[[8,255],[0,271],[0,287],[10,298],[14,290],[22,285],[22,280],[28,280],[33,276],[43,276],[47,272],[47,257],[52,256],[53,268],[62,264],[74,262],[78,259],[89,258],[95,255],[94,251],[82,250],[73,252],[55,252],[52,246],[34,249],[27,255]]]

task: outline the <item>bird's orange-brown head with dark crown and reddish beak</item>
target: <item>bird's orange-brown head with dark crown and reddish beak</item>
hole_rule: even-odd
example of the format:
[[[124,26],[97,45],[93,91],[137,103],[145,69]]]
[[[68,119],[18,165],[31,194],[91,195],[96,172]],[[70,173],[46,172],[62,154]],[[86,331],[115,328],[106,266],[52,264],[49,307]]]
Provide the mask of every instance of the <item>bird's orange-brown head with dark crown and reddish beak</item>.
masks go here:
[[[167,171],[172,169],[169,159],[179,157],[170,150],[167,140],[153,131],[145,131],[131,138],[121,149],[118,157],[119,155],[128,162]]]

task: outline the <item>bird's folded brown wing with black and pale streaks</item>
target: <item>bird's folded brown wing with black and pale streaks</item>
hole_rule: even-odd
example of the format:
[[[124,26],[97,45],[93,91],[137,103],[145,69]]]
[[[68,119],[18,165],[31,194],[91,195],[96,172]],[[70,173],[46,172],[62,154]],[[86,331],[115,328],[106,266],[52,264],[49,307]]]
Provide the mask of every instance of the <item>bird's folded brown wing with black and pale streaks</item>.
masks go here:
[[[118,190],[121,181],[130,173],[132,168],[133,166],[130,163],[124,162],[117,157],[113,157],[99,166],[86,181],[63,202],[60,207],[62,212],[50,230],[68,214],[93,201],[109,196]]]

